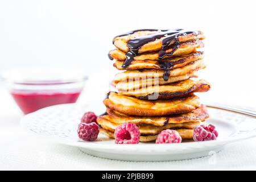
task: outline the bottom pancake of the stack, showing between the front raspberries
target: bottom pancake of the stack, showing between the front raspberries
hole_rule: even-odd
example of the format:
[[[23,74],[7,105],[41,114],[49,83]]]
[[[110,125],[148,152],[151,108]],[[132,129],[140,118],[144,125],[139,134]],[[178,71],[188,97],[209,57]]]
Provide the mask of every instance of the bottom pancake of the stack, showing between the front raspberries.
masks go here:
[[[192,139],[193,130],[190,129],[176,129],[182,139]],[[107,135],[109,138],[115,138],[114,133],[105,129],[100,129],[100,132]],[[141,135],[140,142],[151,142],[155,141],[158,135]]]

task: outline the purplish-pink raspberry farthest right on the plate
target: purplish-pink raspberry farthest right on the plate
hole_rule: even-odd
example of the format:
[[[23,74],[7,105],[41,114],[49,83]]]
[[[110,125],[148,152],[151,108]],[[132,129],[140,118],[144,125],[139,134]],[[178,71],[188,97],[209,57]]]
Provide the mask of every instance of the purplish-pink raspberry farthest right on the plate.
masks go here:
[[[193,139],[196,142],[216,140],[216,138],[218,137],[218,132],[215,129],[216,127],[212,124],[208,126],[207,125],[195,126]]]

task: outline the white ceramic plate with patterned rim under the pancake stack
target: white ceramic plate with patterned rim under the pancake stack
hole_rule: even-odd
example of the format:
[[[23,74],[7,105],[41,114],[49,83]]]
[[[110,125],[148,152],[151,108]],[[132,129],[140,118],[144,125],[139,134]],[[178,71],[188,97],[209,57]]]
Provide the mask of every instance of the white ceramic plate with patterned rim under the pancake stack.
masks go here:
[[[84,142],[77,137],[77,126],[86,111],[104,113],[102,104],[79,106],[64,104],[47,107],[25,115],[21,119],[24,130],[54,140],[57,143],[77,146],[87,154],[108,159],[129,161],[168,161],[199,158],[220,151],[226,144],[256,136],[256,122],[252,118],[208,109],[219,137],[214,141],[183,142],[179,144],[115,144],[113,139],[100,134],[95,142]],[[101,106],[100,106],[101,107]]]

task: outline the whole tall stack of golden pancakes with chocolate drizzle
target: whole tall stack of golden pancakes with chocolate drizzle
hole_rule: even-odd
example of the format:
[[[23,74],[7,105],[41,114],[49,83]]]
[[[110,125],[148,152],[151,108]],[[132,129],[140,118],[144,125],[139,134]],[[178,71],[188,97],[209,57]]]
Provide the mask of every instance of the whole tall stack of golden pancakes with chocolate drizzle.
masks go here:
[[[115,128],[133,122],[141,142],[155,140],[166,129],[191,139],[193,127],[209,118],[195,92],[207,92],[205,80],[191,80],[205,68],[201,31],[135,30],[116,36],[109,52],[118,73],[104,100],[106,113],[98,117],[101,132],[114,138]]]

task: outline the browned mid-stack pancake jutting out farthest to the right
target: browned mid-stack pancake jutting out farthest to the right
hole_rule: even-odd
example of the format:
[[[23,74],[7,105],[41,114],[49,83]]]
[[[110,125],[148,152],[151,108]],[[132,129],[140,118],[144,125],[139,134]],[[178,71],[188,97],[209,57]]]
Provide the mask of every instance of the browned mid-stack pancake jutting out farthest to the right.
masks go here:
[[[210,84],[205,80],[184,80],[168,85],[148,86],[140,89],[123,90],[116,86],[118,93],[126,96],[134,96],[141,100],[168,100],[174,97],[185,97],[193,92],[207,92]]]

